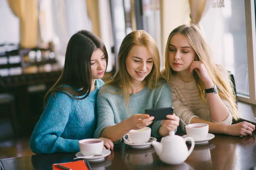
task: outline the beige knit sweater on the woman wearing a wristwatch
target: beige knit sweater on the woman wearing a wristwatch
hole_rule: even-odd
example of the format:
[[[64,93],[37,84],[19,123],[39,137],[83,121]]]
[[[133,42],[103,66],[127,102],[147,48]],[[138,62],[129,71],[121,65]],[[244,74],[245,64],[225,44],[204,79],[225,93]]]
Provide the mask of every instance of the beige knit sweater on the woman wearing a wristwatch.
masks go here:
[[[199,89],[196,86],[195,80],[192,82],[183,82],[182,80],[173,76],[170,81],[170,85],[172,88],[172,105],[174,107],[174,113],[184,122],[186,122],[186,124],[190,124],[192,118],[216,122],[210,115],[208,102],[204,102],[200,98]],[[222,99],[222,101],[227,107],[229,114],[224,121],[218,123],[231,124],[231,105],[225,99]],[[185,126],[182,123],[180,123],[180,125],[182,129],[185,130]]]

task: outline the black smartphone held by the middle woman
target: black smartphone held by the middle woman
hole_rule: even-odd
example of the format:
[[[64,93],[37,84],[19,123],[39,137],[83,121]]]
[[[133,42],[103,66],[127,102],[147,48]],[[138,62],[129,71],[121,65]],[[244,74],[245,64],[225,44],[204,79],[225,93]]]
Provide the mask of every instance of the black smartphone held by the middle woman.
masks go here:
[[[146,109],[145,114],[148,114],[149,116],[154,116],[154,120],[166,120],[166,115],[173,114],[173,109],[173,107]]]

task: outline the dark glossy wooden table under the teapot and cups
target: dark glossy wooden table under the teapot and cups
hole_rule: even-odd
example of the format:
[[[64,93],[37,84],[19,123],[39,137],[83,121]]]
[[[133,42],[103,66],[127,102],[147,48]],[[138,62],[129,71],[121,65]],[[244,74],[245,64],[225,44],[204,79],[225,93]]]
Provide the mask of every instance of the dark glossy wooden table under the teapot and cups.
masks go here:
[[[188,147],[190,146],[187,144]],[[75,153],[54,153],[1,159],[1,170],[52,170],[52,164],[74,161]],[[253,170],[256,167],[256,132],[238,137],[216,134],[207,144],[195,145],[191,155],[179,165],[163,163],[151,146],[133,149],[115,145],[104,161],[91,162],[101,170]]]

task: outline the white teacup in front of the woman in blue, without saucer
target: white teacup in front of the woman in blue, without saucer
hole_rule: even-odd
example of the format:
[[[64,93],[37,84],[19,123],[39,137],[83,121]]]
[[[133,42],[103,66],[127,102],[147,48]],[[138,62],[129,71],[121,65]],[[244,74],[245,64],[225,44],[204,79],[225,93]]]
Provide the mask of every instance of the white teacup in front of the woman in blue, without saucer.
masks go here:
[[[104,141],[102,139],[82,139],[79,149],[84,156],[99,155],[102,153]]]

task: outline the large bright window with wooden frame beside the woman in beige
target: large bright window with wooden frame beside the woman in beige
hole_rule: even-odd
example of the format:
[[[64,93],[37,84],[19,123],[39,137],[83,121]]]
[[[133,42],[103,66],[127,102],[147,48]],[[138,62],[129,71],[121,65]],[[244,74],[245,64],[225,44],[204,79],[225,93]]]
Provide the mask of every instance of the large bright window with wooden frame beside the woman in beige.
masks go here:
[[[256,104],[254,0],[225,0],[201,22],[215,63],[234,74],[239,100]]]

